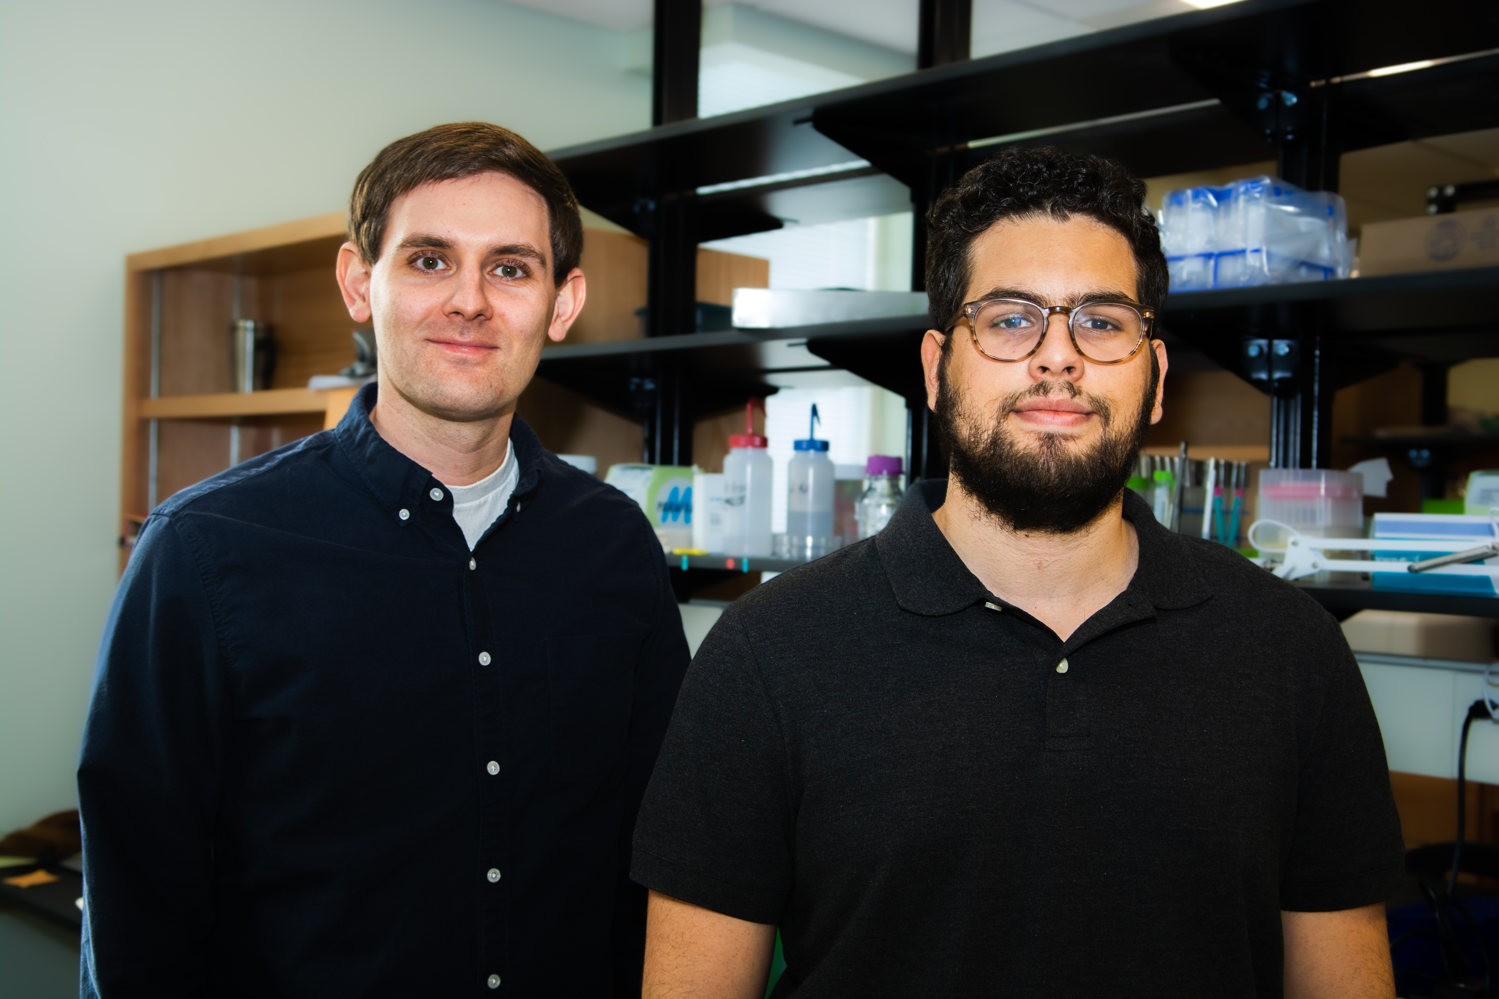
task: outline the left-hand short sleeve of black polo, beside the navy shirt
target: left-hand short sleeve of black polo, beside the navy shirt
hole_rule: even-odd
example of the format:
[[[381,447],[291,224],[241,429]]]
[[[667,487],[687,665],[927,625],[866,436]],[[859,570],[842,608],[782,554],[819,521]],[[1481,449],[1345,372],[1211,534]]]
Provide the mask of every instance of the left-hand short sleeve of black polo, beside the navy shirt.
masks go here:
[[[778,923],[793,882],[781,725],[733,611],[687,671],[636,822],[634,881],[751,923]]]

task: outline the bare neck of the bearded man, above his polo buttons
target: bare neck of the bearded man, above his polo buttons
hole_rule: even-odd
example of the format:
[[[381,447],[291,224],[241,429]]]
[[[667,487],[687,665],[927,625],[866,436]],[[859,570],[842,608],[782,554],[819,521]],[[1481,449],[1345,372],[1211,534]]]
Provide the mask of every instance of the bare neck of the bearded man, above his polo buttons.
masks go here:
[[[1115,500],[1072,535],[1010,530],[947,479],[947,500],[932,520],[973,575],[1066,641],[1082,622],[1129,587],[1139,563],[1135,526]]]

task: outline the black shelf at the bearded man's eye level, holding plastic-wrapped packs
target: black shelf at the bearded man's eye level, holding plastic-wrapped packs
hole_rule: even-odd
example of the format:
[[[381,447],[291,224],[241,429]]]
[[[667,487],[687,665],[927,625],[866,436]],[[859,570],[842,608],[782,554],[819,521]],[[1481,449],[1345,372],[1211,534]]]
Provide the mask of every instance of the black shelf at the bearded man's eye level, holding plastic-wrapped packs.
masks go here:
[[[1499,355],[1499,267],[1262,285],[1166,298],[1160,327],[1171,344],[1202,350],[1255,379],[1244,344],[1316,331],[1339,347],[1336,385],[1352,383],[1403,359],[1456,361]],[[925,398],[917,346],[926,316],[730,330],[681,337],[547,347],[538,374],[594,401],[630,410],[631,379],[675,365],[687,377],[684,412],[727,409],[773,391],[766,374],[842,368],[905,398]],[[700,404],[694,404],[700,401]]]

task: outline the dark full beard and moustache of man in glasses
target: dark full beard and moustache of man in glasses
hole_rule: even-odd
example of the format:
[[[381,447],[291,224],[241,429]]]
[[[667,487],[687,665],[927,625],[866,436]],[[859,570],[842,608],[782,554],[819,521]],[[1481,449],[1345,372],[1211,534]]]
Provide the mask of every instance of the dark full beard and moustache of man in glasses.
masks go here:
[[[1067,379],[1037,382],[1006,395],[995,406],[992,422],[985,422],[968,410],[964,394],[952,386],[944,359],[934,415],[952,460],[950,473],[1010,530],[1042,535],[1082,530],[1118,499],[1133,475],[1159,379],[1160,367],[1151,353],[1150,386],[1135,419],[1124,425],[1115,427],[1114,409],[1106,400],[1084,392]],[[1084,400],[1102,422],[1097,443],[1073,452],[1066,434],[1043,433],[1034,448],[1022,446],[1006,419],[1025,400],[1046,395]]]

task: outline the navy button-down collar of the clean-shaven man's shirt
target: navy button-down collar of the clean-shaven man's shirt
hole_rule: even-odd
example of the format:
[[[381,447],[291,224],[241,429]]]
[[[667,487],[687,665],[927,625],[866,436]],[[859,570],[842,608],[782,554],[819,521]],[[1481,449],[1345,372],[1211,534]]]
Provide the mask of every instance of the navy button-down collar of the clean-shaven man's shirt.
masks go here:
[[[400,524],[411,524],[423,508],[421,497],[433,487],[441,485],[427,469],[421,467],[396,448],[390,446],[375,424],[370,422],[370,409],[379,394],[379,386],[370,382],[361,388],[354,401],[349,403],[343,419],[334,427],[333,436],[339,448],[354,466],[364,487],[379,500]],[[510,446],[514,449],[516,463],[520,467],[520,478],[511,502],[526,497],[541,485],[541,458],[546,451],[537,434],[520,416],[510,425]],[[444,500],[450,503],[451,500]],[[406,517],[400,517],[406,511]]]

